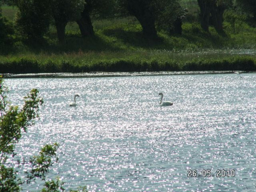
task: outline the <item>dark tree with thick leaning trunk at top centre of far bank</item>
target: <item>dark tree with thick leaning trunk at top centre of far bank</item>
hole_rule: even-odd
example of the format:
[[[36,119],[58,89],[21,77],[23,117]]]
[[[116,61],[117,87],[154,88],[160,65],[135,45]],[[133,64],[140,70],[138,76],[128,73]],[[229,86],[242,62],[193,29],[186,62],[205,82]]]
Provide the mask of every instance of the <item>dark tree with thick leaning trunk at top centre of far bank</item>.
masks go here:
[[[184,11],[178,0],[118,0],[121,11],[137,18],[145,37],[155,39],[156,26],[160,30],[181,34]]]

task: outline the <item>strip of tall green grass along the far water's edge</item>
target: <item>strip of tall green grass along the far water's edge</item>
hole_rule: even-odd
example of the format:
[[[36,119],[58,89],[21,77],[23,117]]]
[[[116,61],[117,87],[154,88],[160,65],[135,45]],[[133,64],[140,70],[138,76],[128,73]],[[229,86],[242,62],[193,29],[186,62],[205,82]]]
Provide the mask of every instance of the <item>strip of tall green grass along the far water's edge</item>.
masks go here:
[[[111,56],[110,56],[111,55]],[[102,52],[10,57],[0,62],[1,73],[90,71],[256,71],[256,58],[163,52]]]

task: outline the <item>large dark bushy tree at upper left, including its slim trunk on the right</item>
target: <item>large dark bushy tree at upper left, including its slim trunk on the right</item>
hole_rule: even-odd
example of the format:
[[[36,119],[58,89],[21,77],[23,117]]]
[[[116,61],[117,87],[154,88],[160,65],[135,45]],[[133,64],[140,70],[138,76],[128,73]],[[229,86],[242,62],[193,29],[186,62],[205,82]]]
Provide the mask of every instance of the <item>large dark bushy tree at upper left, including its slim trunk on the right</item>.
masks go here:
[[[65,42],[65,28],[69,21],[81,17],[84,0],[3,0],[19,8],[17,31],[28,38],[42,38],[54,20],[60,43]]]

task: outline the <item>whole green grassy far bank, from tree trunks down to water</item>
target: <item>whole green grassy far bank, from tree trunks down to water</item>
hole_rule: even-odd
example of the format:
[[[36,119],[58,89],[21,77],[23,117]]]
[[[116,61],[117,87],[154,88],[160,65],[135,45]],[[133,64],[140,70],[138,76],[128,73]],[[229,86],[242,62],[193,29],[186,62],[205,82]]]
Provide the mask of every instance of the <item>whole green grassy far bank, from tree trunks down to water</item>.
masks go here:
[[[12,11],[5,9],[8,18]],[[256,49],[256,29],[245,23],[234,32],[225,22],[227,36],[185,23],[181,36],[159,32],[156,40],[143,37],[133,17],[94,21],[93,26],[95,37],[81,38],[76,23],[69,23],[65,45],[58,44],[55,28],[40,42],[15,37],[0,55],[0,73],[256,71],[255,54],[243,51]]]

